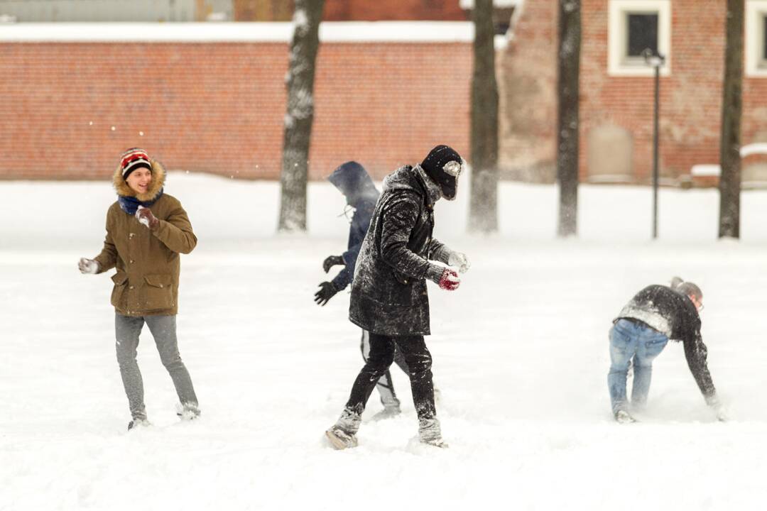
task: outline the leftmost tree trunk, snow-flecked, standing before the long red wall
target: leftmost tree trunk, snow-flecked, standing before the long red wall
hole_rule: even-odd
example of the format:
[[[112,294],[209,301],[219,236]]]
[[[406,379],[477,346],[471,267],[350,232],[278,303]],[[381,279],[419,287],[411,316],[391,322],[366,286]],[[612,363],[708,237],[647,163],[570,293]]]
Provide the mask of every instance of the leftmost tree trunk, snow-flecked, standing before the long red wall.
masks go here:
[[[314,120],[314,61],[323,0],[296,0],[288,75],[288,109],[280,175],[279,231],[306,231],[306,181]]]

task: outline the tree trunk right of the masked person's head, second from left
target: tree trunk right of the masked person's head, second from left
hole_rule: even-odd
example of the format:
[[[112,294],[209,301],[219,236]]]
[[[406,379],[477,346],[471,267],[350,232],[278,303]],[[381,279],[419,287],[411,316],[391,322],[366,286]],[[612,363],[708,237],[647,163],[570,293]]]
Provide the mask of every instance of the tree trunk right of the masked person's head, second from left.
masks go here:
[[[498,84],[492,0],[475,0],[469,231],[498,231]]]

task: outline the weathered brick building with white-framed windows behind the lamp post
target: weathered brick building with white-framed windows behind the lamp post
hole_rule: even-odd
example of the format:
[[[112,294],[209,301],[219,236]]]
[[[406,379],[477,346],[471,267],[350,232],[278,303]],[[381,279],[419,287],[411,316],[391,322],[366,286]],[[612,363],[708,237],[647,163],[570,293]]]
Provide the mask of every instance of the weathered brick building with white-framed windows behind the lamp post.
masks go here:
[[[742,142],[767,142],[767,2],[746,2]],[[648,179],[653,70],[637,56],[667,57],[660,79],[660,169],[670,182],[719,162],[725,0],[581,1],[581,176]],[[557,0],[527,0],[500,59],[505,107],[502,164],[551,180],[555,167]],[[744,172],[759,157],[744,161]],[[744,179],[746,177],[744,176]]]

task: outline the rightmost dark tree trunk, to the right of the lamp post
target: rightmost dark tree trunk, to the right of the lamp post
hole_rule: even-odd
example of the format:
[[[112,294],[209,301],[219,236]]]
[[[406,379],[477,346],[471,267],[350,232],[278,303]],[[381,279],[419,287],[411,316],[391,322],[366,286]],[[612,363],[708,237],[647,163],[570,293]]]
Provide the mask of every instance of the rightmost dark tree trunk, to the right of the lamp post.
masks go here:
[[[724,98],[719,141],[719,237],[740,237],[740,117],[743,90],[743,0],[727,0]]]

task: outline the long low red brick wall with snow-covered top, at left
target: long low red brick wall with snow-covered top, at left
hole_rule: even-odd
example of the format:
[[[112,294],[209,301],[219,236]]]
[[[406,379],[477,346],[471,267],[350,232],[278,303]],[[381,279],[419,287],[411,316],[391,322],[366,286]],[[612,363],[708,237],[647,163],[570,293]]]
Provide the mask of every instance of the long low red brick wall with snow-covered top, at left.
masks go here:
[[[0,179],[111,175],[142,146],[170,169],[275,179],[285,43],[0,43]],[[468,156],[471,44],[323,43],[310,175],[377,177],[437,143]],[[114,129],[112,129],[114,126]]]

